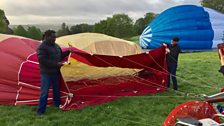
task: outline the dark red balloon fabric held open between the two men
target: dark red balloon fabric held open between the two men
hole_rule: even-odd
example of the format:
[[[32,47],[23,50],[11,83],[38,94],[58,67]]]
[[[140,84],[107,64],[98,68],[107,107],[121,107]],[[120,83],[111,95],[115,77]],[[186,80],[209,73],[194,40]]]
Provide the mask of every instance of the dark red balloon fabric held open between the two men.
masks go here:
[[[165,47],[129,56],[108,56],[85,53],[74,49],[71,57],[94,67],[121,67],[143,69],[136,75],[109,76],[99,79],[66,81],[74,97],[63,107],[65,110],[100,104],[123,96],[138,96],[163,92],[167,85]],[[105,73],[106,74],[106,73]]]

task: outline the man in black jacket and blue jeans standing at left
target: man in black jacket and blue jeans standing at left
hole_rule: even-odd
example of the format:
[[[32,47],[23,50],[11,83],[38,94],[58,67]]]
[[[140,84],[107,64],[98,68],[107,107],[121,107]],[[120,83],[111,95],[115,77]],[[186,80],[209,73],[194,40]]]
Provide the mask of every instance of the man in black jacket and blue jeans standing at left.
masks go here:
[[[37,114],[42,115],[46,111],[48,91],[50,86],[53,89],[53,101],[56,107],[60,105],[60,67],[62,60],[69,55],[70,51],[62,52],[55,43],[55,31],[47,30],[43,35],[43,42],[37,48],[37,56],[40,64],[40,101]]]

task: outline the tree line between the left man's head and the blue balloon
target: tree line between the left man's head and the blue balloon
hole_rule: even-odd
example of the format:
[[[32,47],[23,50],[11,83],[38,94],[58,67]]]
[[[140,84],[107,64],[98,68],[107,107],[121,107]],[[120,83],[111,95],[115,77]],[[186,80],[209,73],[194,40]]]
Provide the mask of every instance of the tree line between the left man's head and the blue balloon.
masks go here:
[[[62,23],[57,36],[64,36],[69,34],[77,34],[83,32],[103,33],[110,36],[124,38],[135,35],[140,35],[144,28],[157,16],[154,13],[147,13],[143,18],[133,22],[127,14],[114,14],[105,20],[101,20],[94,25],[77,24],[70,28],[66,23]]]

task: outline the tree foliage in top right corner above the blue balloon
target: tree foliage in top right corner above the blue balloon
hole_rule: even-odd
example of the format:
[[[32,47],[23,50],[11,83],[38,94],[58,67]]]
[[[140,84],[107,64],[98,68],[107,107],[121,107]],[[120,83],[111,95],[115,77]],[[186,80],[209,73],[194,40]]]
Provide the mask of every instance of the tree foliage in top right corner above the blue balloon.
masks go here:
[[[212,8],[221,13],[224,13],[224,1],[223,0],[201,0],[203,7]]]

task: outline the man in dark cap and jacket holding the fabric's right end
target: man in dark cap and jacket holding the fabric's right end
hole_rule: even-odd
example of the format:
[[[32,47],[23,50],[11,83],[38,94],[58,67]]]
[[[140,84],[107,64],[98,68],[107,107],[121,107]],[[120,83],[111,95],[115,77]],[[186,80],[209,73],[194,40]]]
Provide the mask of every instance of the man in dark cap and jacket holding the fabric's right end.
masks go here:
[[[178,56],[181,52],[181,48],[178,46],[178,37],[174,37],[171,41],[171,44],[165,44],[167,46],[166,49],[166,62],[168,67],[168,85],[170,87],[170,77],[173,81],[173,89],[177,91],[177,80],[176,80],[176,71],[177,71],[177,64],[178,64]]]

